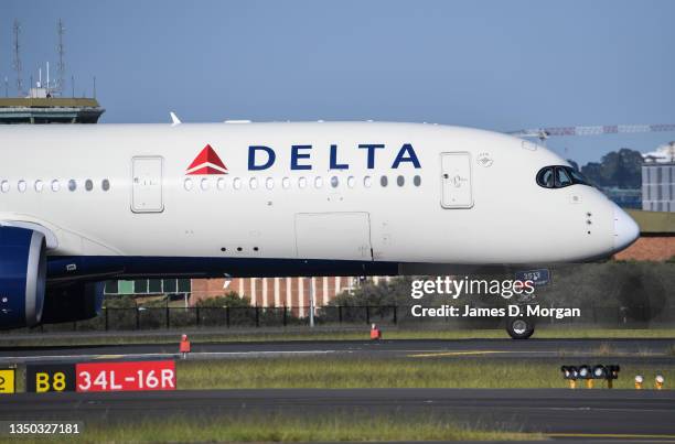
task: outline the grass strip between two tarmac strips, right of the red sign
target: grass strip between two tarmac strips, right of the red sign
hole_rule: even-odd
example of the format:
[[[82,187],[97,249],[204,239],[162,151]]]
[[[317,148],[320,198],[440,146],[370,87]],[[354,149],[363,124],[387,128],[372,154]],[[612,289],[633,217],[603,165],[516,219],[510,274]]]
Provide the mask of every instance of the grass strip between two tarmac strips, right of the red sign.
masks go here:
[[[264,389],[264,388],[566,388],[561,365],[617,364],[602,358],[583,361],[490,358],[265,358],[216,361],[179,361],[179,389]],[[621,364],[621,362],[619,362]],[[642,375],[645,389],[653,387],[656,373],[665,377],[665,388],[675,381],[675,366],[621,365],[618,389],[633,389],[633,378]],[[671,382],[668,382],[671,381]],[[583,381],[578,381],[583,387]],[[607,387],[596,380],[596,388]]]

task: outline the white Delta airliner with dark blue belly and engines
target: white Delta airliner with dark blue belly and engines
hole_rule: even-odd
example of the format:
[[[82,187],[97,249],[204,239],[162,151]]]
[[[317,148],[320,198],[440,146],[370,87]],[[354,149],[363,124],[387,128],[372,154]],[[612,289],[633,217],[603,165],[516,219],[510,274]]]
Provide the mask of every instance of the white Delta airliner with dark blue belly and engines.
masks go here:
[[[588,261],[639,236],[557,154],[468,128],[11,126],[0,147],[4,328],[93,317],[109,279]]]

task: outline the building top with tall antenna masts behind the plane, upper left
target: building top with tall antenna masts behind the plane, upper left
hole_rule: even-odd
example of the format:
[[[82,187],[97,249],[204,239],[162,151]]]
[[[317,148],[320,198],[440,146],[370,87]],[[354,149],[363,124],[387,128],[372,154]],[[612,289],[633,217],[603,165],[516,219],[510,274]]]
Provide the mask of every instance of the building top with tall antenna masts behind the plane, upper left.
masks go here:
[[[50,78],[50,64],[45,65],[43,82],[42,66],[38,71],[38,82],[31,85],[28,93],[23,87],[22,63],[20,52],[21,26],[14,20],[13,25],[13,68],[15,72],[15,96],[9,97],[8,77],[4,78],[4,97],[0,98],[0,124],[14,123],[96,123],[105,109],[96,100],[96,83],[94,83],[93,97],[75,97],[73,86],[75,78],[71,79],[72,94],[66,97],[65,90],[65,61],[64,36],[65,28],[58,21],[57,35],[57,64],[56,77]]]

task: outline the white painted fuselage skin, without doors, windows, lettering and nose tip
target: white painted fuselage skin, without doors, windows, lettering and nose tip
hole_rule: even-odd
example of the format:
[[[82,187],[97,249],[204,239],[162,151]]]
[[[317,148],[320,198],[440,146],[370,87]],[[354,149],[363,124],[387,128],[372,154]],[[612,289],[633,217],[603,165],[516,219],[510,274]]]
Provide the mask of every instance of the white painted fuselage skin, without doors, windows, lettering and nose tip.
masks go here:
[[[375,169],[368,170],[363,143],[382,143]],[[404,143],[414,147],[421,164],[392,169]],[[529,142],[528,142],[529,143]],[[227,166],[226,175],[186,176],[193,159],[211,144]],[[293,144],[311,144],[311,171],[291,170]],[[347,170],[330,170],[330,147]],[[614,206],[598,189],[572,185],[538,186],[535,176],[546,165],[567,165],[555,153],[501,133],[432,124],[379,122],[200,123],[12,126],[0,128],[3,149],[0,220],[38,223],[52,230],[58,247],[51,255],[140,257],[298,258],[296,215],[367,213],[373,259],[395,262],[533,263],[578,261],[613,249]],[[275,150],[275,164],[248,171],[250,145]],[[304,151],[303,151],[304,152]],[[471,208],[441,206],[440,154],[471,156]],[[490,166],[479,164],[488,154]],[[161,213],[131,210],[131,159],[163,159]],[[381,186],[386,175],[388,185]],[[405,185],[397,185],[397,177]],[[421,177],[415,186],[414,176]],[[321,188],[314,186],[322,177]],[[336,176],[339,186],[331,186]],[[353,176],[355,186],[347,186]],[[364,186],[364,177],[372,186]],[[191,177],[194,186],[185,191]],[[242,187],[233,188],[235,177]],[[257,188],[249,181],[257,178]],[[274,188],[266,187],[268,177]],[[289,177],[290,188],[281,186]],[[298,181],[306,177],[307,187]],[[68,191],[68,181],[77,189]],[[107,178],[110,189],[101,189]],[[201,188],[206,178],[208,188]],[[224,189],[216,181],[225,178]],[[19,181],[26,191],[18,191]],[[36,192],[34,183],[44,183]],[[53,180],[58,192],[51,189]],[[85,181],[94,189],[85,189]],[[590,214],[590,216],[589,216]],[[588,225],[591,220],[591,225]],[[590,231],[590,234],[589,234]],[[317,257],[335,257],[342,239],[313,234]],[[242,251],[237,251],[240,247]],[[226,248],[226,251],[222,251]],[[257,248],[257,250],[254,250]]]

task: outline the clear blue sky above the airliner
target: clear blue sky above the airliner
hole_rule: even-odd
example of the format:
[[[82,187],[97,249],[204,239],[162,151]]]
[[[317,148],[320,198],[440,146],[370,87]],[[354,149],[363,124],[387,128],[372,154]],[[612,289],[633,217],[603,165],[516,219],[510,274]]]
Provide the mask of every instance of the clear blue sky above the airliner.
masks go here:
[[[18,1],[0,76],[56,64],[101,122],[394,120],[499,131],[675,122],[673,1]],[[2,95],[4,87],[2,86]],[[551,139],[586,163],[675,133]]]

